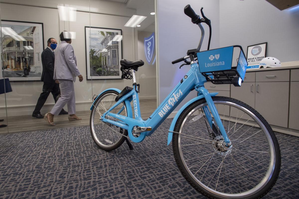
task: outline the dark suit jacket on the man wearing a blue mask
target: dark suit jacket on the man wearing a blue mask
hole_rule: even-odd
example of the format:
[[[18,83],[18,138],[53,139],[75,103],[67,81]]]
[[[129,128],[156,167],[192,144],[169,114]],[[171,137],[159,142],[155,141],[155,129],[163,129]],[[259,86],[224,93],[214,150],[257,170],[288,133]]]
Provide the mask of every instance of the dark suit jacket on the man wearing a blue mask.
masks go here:
[[[54,83],[54,53],[47,47],[42,51],[42,82]]]

